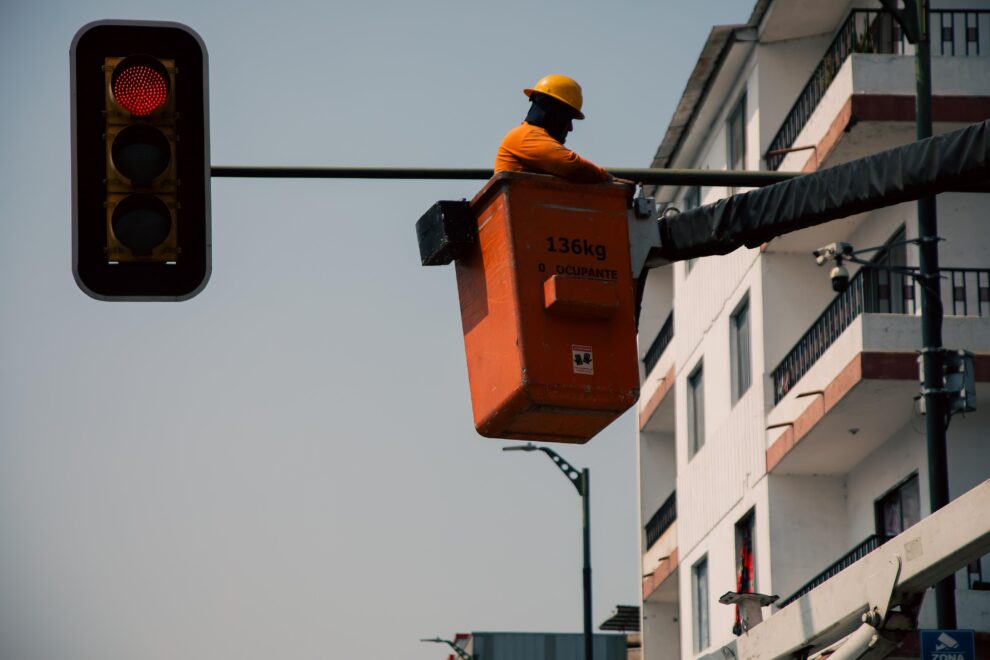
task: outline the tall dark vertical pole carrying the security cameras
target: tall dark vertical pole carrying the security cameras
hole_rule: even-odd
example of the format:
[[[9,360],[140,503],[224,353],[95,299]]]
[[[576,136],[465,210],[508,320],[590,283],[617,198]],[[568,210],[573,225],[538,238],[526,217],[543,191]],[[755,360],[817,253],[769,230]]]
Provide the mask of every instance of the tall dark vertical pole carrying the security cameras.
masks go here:
[[[915,135],[918,140],[932,136],[932,57],[928,0],[881,0],[914,44],[915,54]],[[949,503],[949,467],[945,421],[947,402],[944,392],[942,347],[942,301],[938,266],[938,216],[935,197],[918,199],[918,279],[921,283],[921,361],[925,401],[925,435],[928,439],[928,489],[931,512]],[[938,627],[956,627],[955,575],[935,585],[935,611]]]

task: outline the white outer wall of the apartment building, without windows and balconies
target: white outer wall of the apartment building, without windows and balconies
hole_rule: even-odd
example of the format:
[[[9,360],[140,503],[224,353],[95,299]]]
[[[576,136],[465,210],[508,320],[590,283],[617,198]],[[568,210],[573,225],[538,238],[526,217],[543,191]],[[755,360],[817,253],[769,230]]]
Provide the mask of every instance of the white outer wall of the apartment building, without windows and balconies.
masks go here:
[[[846,4],[877,8],[877,3],[866,0]],[[985,0],[935,4],[953,8],[990,6]],[[837,24],[832,26],[836,27]],[[721,81],[712,87],[718,91],[704,100],[705,121],[690,129],[703,132],[703,136],[695,135],[690,141],[700,146],[694,153],[678,154],[673,166],[726,169],[726,119],[745,91],[746,168],[765,167],[762,158],[767,146],[832,38],[833,30],[828,30],[756,45],[734,82]],[[856,55],[847,60],[837,83],[826,94],[795,145],[821,140],[852,93],[913,93],[913,66],[913,61],[904,57]],[[936,93],[990,95],[990,67],[986,66],[985,57],[936,58],[933,70]],[[714,119],[709,121],[708,117]],[[940,124],[936,131],[955,127]],[[840,147],[831,156],[822,154],[824,162],[816,165],[835,164],[912,139],[913,122],[863,122],[840,136]],[[808,157],[808,152],[803,155],[799,152],[785,160],[781,169],[797,169]],[[725,188],[703,187],[701,203],[715,202],[727,192]],[[673,194],[668,187],[663,195],[683,207],[686,193],[686,187]],[[985,226],[984,198],[985,195],[976,194],[939,196],[939,232],[946,239],[939,248],[943,266],[990,265],[990,232]],[[679,568],[677,602],[644,603],[645,658],[674,657],[670,644],[674,638],[673,616],[679,619],[680,657],[698,655],[693,649],[691,578],[693,566],[702,558],[707,558],[710,587],[711,644],[707,652],[733,639],[734,608],[720,605],[718,598],[735,589],[735,525],[748,511],[754,510],[756,515],[757,590],[782,598],[790,596],[874,534],[876,500],[914,472],[919,476],[922,515],[928,513],[926,444],[923,432],[919,433],[924,420],[917,414],[886,440],[884,436],[876,437],[874,442],[881,444],[844,474],[766,472],[768,439],[773,440],[780,433],[767,430],[768,417],[776,408],[770,374],[835,297],[828,277],[831,266],[819,267],[811,251],[835,241],[850,242],[856,248],[880,246],[902,225],[906,238],[911,239],[917,235],[916,224],[916,205],[900,204],[795,232],[774,239],[762,249],[742,248],[729,255],[696,260],[690,269],[688,264],[679,263],[663,269],[664,275],[651,274],[644,300],[645,335],[641,336],[641,354],[666,320],[673,301],[675,332],[663,358],[663,373],[668,365],[673,365],[676,380],[668,393],[673,398],[673,432],[640,434],[641,520],[645,524],[669,494],[671,484],[676,483]],[[907,253],[908,265],[916,265],[915,250],[909,246]],[[869,259],[872,254],[863,256]],[[849,269],[855,274],[857,267],[850,265]],[[747,293],[752,385],[733,404],[729,319]],[[914,335],[917,320],[899,317],[890,327],[877,326],[883,322],[877,318],[864,320],[865,325],[855,328],[850,326],[864,333],[856,340],[859,351],[865,350],[867,341],[870,350],[920,347],[920,337]],[[947,320],[947,345],[950,342],[983,350],[983,345],[990,346],[990,333],[981,323],[967,320],[960,325]],[[699,361],[704,364],[706,438],[704,446],[690,456],[687,379]],[[652,392],[656,384],[650,387]],[[915,405],[909,399],[904,401],[908,408]],[[877,414],[883,411],[878,410]],[[990,476],[988,424],[980,415],[976,413],[952,422],[949,451],[953,496]],[[985,579],[990,580],[988,558],[983,559],[982,565]],[[965,579],[964,571],[957,574],[960,587],[966,586]],[[966,625],[990,629],[990,615],[981,614],[990,611],[990,595],[968,590],[959,594],[959,602],[968,608],[960,616],[960,625],[965,621]],[[924,616],[928,617],[930,604],[926,608]],[[922,622],[927,619],[923,617]]]

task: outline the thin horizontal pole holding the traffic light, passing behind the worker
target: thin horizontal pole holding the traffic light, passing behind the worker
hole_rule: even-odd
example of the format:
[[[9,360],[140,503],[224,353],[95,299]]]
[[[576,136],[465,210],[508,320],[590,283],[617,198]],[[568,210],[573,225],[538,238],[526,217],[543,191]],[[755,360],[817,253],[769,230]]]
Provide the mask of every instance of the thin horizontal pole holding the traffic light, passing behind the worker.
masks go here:
[[[609,170],[620,179],[646,185],[758,187],[786,181],[800,172],[746,172],[723,170]],[[483,168],[442,167],[255,167],[214,165],[214,177],[254,179],[477,179],[488,180],[493,171]]]

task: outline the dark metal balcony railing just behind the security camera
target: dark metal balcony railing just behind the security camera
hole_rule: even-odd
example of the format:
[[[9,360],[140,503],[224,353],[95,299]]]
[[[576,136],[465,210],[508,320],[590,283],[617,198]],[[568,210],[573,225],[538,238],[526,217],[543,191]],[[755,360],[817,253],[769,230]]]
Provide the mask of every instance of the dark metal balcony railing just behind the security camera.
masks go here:
[[[990,316],[990,270],[942,268],[942,305],[953,316]],[[835,343],[860,314],[914,314],[914,279],[878,268],[861,268],[773,370],[774,404]]]

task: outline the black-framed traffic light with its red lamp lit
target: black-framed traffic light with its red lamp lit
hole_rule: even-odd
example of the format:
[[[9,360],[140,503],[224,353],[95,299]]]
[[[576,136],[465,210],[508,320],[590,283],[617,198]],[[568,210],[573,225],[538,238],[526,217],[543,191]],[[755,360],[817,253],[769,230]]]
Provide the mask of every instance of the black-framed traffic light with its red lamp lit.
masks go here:
[[[206,47],[99,21],[71,48],[72,269],[100,300],[185,300],[210,276]]]

